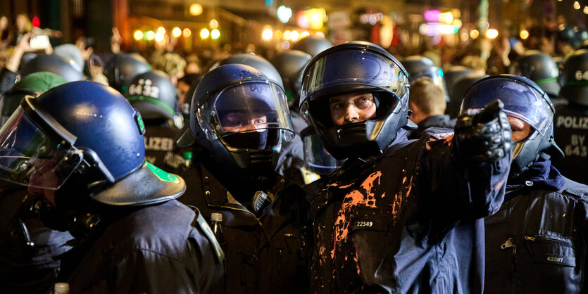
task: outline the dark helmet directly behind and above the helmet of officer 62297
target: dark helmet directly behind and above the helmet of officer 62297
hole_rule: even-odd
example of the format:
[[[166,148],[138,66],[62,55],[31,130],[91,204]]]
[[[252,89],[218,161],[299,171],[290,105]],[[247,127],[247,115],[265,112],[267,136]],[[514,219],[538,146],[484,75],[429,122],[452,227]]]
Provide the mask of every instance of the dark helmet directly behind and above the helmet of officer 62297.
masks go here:
[[[559,94],[558,65],[551,56],[542,51],[526,51],[511,64],[509,72],[512,75],[521,75],[531,79],[551,97],[556,97]]]

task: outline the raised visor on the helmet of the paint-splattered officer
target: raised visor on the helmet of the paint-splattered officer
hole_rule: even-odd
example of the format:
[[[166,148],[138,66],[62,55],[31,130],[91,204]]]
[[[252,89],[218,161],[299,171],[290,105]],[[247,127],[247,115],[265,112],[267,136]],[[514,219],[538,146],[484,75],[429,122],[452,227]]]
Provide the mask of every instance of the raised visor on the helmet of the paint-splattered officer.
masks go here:
[[[408,77],[400,66],[391,58],[372,51],[334,51],[308,67],[302,83],[301,102],[318,98],[314,96],[317,91],[346,84],[354,85],[357,90],[361,87],[384,89],[396,98],[408,93]]]

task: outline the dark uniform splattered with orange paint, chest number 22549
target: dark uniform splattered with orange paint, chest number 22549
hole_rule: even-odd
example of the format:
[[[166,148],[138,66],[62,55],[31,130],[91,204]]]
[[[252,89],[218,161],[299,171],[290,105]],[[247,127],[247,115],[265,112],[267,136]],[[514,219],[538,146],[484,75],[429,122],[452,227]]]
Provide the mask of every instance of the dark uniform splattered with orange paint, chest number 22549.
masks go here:
[[[384,155],[348,160],[323,181],[311,293],[482,292],[479,218],[500,207],[510,158],[461,172],[444,132],[408,141],[401,129]]]

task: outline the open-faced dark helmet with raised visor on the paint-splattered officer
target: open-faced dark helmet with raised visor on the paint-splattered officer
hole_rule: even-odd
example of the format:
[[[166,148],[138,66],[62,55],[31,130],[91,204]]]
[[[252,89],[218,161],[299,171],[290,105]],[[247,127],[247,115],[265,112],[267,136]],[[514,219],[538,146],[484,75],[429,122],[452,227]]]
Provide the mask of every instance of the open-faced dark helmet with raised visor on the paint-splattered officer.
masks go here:
[[[392,54],[366,41],[351,41],[315,56],[304,70],[301,115],[312,124],[327,151],[339,160],[377,155],[408,124],[408,74]],[[363,122],[336,125],[330,98],[370,93],[375,116]]]

